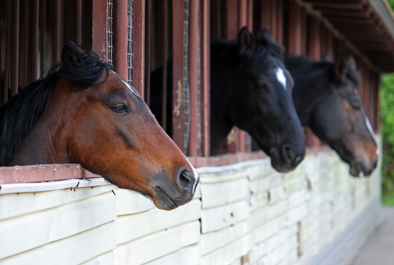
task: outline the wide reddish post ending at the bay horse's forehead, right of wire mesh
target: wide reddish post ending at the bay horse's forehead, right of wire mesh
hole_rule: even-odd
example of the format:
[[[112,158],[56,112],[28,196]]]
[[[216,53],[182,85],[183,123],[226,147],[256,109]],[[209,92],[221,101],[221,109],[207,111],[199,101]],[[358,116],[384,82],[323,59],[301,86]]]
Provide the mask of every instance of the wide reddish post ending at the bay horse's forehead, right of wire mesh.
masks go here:
[[[144,98],[145,1],[133,1],[133,86]]]

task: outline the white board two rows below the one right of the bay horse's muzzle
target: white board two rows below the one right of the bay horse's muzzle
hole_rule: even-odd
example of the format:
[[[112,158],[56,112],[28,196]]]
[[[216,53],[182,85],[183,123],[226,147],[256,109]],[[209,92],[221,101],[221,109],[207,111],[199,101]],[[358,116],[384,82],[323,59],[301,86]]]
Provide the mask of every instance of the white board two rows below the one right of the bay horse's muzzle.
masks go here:
[[[248,221],[201,235],[201,254],[206,255],[216,249],[223,248],[249,233]]]

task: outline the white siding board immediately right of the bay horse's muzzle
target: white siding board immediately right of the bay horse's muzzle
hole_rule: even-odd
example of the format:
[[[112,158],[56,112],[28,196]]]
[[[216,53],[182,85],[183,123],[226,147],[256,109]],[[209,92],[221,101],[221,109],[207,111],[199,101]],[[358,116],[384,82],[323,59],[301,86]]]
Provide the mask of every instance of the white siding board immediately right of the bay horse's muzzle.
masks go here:
[[[249,192],[246,178],[220,183],[201,183],[199,186],[203,209],[245,199]]]

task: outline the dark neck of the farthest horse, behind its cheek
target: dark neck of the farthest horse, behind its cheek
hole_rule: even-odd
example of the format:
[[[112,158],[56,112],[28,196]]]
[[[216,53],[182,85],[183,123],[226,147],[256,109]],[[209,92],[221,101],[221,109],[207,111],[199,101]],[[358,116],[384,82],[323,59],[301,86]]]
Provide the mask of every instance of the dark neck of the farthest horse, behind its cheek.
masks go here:
[[[331,91],[330,73],[326,69],[305,73],[289,71],[294,79],[292,97],[297,115],[302,126],[309,126],[315,106]]]

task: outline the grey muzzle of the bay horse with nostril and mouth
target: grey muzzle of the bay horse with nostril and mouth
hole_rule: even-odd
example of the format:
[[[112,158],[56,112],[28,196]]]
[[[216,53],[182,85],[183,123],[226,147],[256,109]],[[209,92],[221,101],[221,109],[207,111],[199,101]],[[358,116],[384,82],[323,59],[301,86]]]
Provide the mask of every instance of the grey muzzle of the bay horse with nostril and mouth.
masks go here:
[[[161,181],[154,185],[152,200],[157,208],[169,211],[193,199],[199,175],[183,168],[179,172],[175,181]]]

